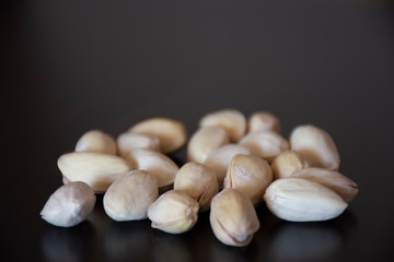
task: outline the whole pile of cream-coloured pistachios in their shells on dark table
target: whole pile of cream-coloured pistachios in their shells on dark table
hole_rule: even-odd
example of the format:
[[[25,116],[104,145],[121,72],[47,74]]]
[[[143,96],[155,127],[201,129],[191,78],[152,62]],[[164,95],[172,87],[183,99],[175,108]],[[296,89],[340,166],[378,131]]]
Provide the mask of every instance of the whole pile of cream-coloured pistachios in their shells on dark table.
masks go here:
[[[187,146],[181,168],[167,154]],[[331,135],[313,126],[294,127],[289,140],[268,111],[246,118],[236,109],[207,114],[189,138],[170,118],[138,122],[115,140],[100,130],[84,133],[74,152],[61,155],[65,186],[46,202],[42,217],[70,227],[92,212],[104,193],[114,221],[149,218],[153,228],[181,234],[210,212],[215,236],[235,247],[248,245],[259,228],[255,206],[265,202],[290,222],[332,219],[357,195],[357,184],[338,172]]]

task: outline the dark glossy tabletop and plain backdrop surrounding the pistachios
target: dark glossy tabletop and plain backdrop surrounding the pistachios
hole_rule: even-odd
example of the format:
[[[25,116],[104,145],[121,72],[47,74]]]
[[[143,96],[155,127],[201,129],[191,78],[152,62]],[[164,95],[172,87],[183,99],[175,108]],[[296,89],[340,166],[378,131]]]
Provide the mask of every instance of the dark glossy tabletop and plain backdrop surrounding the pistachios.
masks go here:
[[[394,9],[380,0],[5,1],[0,11],[2,254],[10,261],[392,261]],[[335,140],[360,193],[339,217],[290,223],[257,206],[246,248],[209,212],[182,235],[118,223],[102,196],[57,228],[39,212],[57,158],[88,130],[155,116],[193,134],[207,112],[277,115]],[[185,148],[172,154],[185,163]],[[11,254],[12,257],[7,257]]]

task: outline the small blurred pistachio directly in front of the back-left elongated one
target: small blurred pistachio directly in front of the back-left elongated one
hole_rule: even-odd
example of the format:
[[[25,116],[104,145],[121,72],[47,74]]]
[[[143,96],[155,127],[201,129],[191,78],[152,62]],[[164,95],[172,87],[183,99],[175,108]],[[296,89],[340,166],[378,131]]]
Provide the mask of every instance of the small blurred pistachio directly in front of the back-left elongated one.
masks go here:
[[[147,134],[121,133],[117,138],[116,143],[120,156],[127,155],[129,151],[135,148],[160,151],[159,138]]]

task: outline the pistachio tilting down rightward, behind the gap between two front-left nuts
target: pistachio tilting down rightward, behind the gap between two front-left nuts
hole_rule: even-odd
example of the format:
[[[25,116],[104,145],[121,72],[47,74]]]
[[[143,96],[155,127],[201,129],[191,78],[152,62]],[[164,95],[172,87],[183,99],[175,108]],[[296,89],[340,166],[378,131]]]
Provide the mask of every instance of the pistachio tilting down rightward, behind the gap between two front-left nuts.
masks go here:
[[[159,188],[165,188],[174,182],[179,167],[166,155],[143,148],[135,148],[124,156],[136,169],[149,171],[158,179]]]

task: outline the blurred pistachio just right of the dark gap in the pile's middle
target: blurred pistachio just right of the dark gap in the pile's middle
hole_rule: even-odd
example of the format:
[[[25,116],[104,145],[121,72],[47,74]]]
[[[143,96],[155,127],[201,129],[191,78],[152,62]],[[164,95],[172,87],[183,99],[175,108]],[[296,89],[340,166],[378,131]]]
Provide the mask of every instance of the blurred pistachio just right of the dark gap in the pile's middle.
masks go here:
[[[228,143],[230,143],[230,135],[223,128],[200,128],[192,135],[187,144],[187,159],[204,163],[212,151]]]

